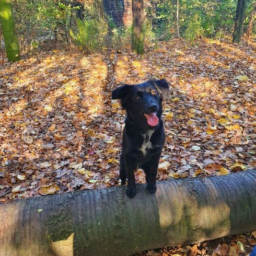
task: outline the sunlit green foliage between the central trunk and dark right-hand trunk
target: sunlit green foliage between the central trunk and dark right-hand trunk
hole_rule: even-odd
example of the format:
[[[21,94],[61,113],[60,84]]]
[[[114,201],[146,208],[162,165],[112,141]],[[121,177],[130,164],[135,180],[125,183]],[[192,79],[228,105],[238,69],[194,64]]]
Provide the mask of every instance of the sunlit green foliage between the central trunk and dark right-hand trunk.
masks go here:
[[[180,34],[192,42],[201,37],[222,37],[231,34],[236,13],[235,0],[180,0]],[[152,0],[147,19],[152,21],[153,32],[162,40],[177,36],[176,0]],[[168,35],[168,37],[166,37]]]

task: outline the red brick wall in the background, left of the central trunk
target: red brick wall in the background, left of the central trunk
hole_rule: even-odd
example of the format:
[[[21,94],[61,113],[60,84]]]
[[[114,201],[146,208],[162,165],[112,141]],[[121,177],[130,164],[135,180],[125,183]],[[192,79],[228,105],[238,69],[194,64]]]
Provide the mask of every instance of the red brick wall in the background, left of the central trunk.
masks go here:
[[[115,25],[132,25],[132,0],[103,0],[103,6]]]

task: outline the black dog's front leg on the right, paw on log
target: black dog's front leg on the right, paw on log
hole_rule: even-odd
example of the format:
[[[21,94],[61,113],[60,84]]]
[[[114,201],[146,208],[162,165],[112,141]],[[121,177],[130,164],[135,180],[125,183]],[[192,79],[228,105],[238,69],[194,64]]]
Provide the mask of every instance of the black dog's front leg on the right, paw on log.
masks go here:
[[[147,181],[147,190],[149,193],[156,192],[156,176],[158,170],[159,159],[161,156],[161,152],[152,156],[150,160],[150,170],[146,172],[146,181]]]

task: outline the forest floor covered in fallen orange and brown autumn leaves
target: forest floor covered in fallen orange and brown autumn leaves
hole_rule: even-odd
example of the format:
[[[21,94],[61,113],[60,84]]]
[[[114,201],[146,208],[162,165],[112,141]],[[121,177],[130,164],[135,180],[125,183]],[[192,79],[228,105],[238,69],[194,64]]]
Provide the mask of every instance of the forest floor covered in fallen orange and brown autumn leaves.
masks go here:
[[[111,90],[166,78],[158,180],[256,167],[256,43],[161,43],[130,50],[0,57],[0,203],[120,185],[125,112]],[[145,182],[142,170],[138,183]],[[256,232],[138,255],[246,255]]]

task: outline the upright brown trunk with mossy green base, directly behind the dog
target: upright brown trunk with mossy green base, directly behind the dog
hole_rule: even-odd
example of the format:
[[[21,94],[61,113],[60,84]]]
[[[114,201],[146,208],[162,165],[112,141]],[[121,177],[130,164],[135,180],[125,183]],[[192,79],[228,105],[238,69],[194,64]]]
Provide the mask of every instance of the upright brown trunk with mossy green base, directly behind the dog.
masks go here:
[[[143,0],[132,0],[133,32],[132,49],[136,53],[143,53]]]

